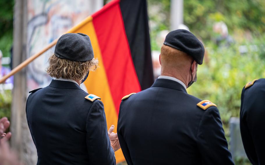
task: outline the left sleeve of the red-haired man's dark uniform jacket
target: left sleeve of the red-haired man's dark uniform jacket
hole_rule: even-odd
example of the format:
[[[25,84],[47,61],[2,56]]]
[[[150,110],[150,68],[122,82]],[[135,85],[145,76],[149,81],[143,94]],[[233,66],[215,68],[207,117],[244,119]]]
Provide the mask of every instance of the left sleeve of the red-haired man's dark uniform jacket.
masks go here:
[[[123,119],[121,117],[121,105],[120,105],[120,110],[119,110],[119,118],[118,118],[118,125],[117,125],[117,134],[118,134],[118,138],[119,138],[119,142],[120,142],[120,146],[121,146],[121,150],[122,153],[126,159],[126,162],[128,165],[133,165],[132,159],[130,157],[130,151],[129,148],[126,144],[126,141],[124,140],[123,134],[122,134],[122,130],[121,130],[121,125],[122,125]]]

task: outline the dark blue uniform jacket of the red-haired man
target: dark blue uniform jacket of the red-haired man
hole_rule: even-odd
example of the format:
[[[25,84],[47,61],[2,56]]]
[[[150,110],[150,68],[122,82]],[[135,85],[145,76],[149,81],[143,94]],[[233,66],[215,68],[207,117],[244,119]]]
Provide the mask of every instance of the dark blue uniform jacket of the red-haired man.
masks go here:
[[[218,109],[173,80],[157,79],[149,89],[122,101],[118,137],[129,165],[230,165]]]

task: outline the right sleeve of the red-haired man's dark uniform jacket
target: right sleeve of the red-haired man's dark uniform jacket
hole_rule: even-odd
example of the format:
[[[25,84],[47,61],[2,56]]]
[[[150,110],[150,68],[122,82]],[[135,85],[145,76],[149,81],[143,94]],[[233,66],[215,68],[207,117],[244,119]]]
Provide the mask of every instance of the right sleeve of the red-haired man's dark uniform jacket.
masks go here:
[[[202,164],[234,164],[216,107],[209,107],[202,116],[197,132],[197,145]]]

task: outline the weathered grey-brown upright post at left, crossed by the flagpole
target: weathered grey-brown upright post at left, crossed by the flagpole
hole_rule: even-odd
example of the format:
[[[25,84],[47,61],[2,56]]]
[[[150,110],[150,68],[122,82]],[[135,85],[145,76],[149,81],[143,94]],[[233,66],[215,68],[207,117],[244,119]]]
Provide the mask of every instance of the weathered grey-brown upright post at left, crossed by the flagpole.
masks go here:
[[[15,0],[13,29],[13,66],[26,59],[27,0]],[[14,76],[11,108],[11,146],[25,165],[37,164],[37,152],[26,120],[26,68]]]

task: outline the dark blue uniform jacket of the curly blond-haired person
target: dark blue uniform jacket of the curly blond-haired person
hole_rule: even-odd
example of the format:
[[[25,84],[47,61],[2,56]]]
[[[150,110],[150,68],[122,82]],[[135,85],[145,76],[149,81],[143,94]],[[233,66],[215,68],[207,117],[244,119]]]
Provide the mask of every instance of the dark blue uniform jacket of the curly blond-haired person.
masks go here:
[[[103,103],[86,95],[76,83],[61,80],[29,95],[26,115],[38,165],[116,164]]]

